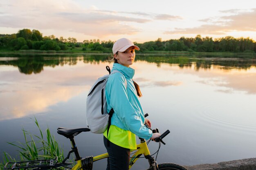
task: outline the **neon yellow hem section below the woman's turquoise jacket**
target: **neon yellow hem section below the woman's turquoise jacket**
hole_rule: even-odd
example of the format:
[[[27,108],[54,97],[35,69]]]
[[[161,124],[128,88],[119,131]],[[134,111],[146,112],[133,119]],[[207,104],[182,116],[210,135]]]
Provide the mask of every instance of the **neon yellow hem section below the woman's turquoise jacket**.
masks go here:
[[[107,130],[103,133],[107,137]],[[121,129],[115,125],[110,125],[108,131],[108,140],[113,144],[128,149],[137,149],[136,136],[131,131]]]

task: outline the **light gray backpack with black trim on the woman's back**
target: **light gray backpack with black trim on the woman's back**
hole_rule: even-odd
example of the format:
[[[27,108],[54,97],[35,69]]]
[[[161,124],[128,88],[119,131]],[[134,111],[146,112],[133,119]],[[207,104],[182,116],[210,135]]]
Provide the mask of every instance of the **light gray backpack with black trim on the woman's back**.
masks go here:
[[[114,113],[113,108],[109,113],[107,111],[105,86],[108,77],[119,71],[113,70],[110,73],[110,68],[108,66],[106,66],[106,69],[109,74],[98,78],[94,85],[92,85],[86,100],[86,120],[88,128],[90,128],[92,133],[104,133],[107,128],[109,129],[111,117]]]

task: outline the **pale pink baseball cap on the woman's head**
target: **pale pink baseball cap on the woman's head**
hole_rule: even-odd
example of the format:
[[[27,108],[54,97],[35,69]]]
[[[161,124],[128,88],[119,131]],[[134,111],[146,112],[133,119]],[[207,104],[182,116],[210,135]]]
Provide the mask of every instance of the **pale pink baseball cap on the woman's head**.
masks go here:
[[[130,48],[131,46],[134,46],[136,50],[139,50],[139,47],[135,46],[132,43],[132,41],[130,41],[129,39],[127,38],[118,39],[113,45],[113,48],[112,48],[113,54],[117,53],[117,51],[124,52],[125,50],[127,50],[127,48]]]

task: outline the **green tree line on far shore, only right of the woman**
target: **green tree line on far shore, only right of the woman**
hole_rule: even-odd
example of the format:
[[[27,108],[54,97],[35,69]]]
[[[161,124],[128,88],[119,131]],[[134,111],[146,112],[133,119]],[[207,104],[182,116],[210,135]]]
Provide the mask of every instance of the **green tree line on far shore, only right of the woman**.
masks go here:
[[[149,41],[137,44],[141,51],[189,51],[189,52],[256,52],[256,42],[248,38],[222,37],[212,39],[197,35],[195,38]]]

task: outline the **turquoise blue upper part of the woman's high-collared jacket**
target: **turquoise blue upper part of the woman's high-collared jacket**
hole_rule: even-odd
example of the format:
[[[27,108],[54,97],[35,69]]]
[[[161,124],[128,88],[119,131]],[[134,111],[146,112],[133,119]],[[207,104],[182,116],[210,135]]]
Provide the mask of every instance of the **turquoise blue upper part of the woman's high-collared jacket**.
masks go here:
[[[111,74],[105,87],[107,110],[109,112],[113,108],[115,111],[111,124],[148,140],[152,131],[144,125],[143,109],[132,81],[135,70],[119,63],[114,63],[112,70],[122,74]]]

